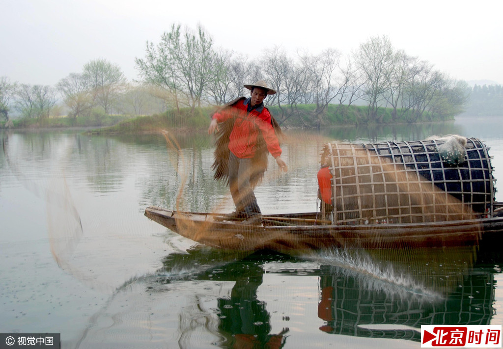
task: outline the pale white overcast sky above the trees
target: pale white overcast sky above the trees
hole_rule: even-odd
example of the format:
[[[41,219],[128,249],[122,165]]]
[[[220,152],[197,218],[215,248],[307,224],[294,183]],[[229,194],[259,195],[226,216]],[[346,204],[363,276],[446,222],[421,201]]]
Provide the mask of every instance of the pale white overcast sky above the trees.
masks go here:
[[[503,1],[0,0],[0,76],[54,85],[105,58],[129,79],[146,41],[200,23],[217,47],[258,57],[265,48],[350,56],[372,36],[457,79],[503,84]]]

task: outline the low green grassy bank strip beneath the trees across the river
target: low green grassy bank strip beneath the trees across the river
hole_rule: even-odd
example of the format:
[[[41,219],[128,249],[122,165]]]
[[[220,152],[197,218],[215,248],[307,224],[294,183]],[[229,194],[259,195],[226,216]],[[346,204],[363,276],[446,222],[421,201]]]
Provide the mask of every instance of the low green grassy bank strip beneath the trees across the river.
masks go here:
[[[287,108],[289,106],[286,106]],[[181,108],[170,110],[150,116],[124,116],[124,115],[101,115],[96,117],[68,116],[49,117],[45,119],[11,119],[11,125],[7,127],[5,121],[0,121],[0,129],[14,130],[41,130],[41,129],[88,129],[89,135],[112,135],[112,134],[149,134],[158,133],[162,129],[176,129],[178,132],[206,132],[211,116],[218,106],[200,108]],[[435,118],[428,113],[413,116],[412,113],[392,108],[380,108],[378,118],[381,122],[367,122],[365,116],[368,106],[328,105],[323,115],[323,123],[318,124],[315,113],[315,105],[297,105],[295,111],[286,114],[277,106],[268,106],[273,117],[280,123],[283,129],[319,129],[330,127],[348,127],[359,125],[390,125],[390,124],[421,124],[430,122],[444,122],[454,120],[454,116]],[[295,118],[291,116],[295,115]],[[414,117],[413,121],[411,118]]]

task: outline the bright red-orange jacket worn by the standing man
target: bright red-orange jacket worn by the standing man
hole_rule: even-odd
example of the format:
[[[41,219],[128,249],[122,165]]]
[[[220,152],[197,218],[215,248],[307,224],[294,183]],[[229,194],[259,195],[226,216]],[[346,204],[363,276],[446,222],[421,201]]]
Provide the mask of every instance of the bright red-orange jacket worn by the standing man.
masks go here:
[[[248,113],[249,100],[248,98],[242,102],[239,101],[232,107],[213,115],[213,119],[218,122],[235,117],[234,127],[229,136],[229,150],[241,159],[254,157],[260,130],[271,155],[280,156],[281,148],[271,123],[269,110],[262,105]]]

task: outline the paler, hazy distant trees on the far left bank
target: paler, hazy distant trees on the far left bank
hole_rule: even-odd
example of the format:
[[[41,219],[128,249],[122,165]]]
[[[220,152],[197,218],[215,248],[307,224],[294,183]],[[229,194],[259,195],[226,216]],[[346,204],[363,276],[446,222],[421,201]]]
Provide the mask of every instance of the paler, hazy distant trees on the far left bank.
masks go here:
[[[68,118],[108,114],[162,113],[167,104],[153,86],[128,82],[121,68],[100,58],[86,63],[81,72],[70,73],[55,86],[11,82],[0,77],[0,118],[10,115],[43,120],[64,113]]]

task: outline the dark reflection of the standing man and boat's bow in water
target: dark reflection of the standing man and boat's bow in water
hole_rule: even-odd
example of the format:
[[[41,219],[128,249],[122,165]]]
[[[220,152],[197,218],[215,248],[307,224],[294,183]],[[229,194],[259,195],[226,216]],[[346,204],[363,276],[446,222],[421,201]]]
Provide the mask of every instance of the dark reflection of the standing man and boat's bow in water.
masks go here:
[[[195,275],[194,279],[234,282],[227,295],[216,299],[214,315],[219,319],[218,345],[229,348],[281,348],[289,329],[271,333],[267,304],[257,296],[265,273],[262,264],[278,259],[284,261],[291,258],[268,252],[225,252],[200,246],[189,250],[188,254],[166,256],[162,274],[178,275],[181,270],[187,272],[193,268],[208,268]],[[170,282],[170,278],[162,278],[162,282]]]

